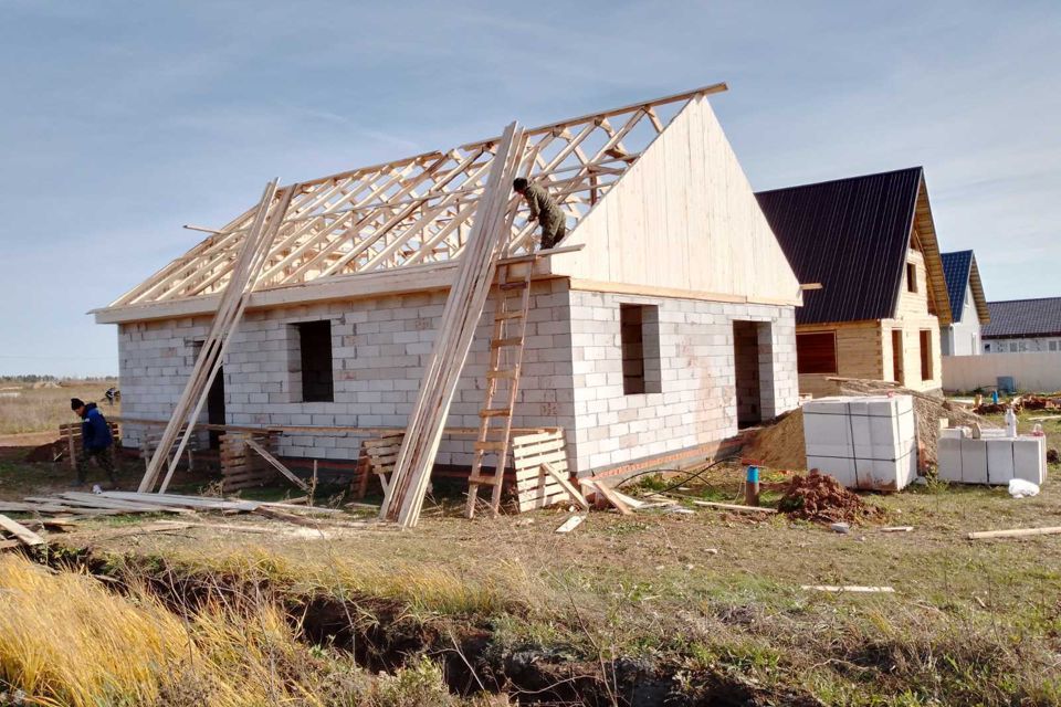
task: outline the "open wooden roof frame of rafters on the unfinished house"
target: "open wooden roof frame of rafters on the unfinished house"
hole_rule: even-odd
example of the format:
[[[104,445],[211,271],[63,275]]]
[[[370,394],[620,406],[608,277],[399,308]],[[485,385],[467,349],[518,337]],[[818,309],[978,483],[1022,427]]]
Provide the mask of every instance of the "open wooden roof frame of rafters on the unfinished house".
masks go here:
[[[715,84],[528,130],[521,173],[545,183],[561,202],[570,231],[687,102],[725,87]],[[292,184],[294,197],[256,288],[459,257],[498,143],[491,138]],[[510,199],[513,205],[517,196]],[[244,212],[111,306],[221,292],[254,213]],[[527,215],[519,204],[508,255],[534,246],[536,223]]]

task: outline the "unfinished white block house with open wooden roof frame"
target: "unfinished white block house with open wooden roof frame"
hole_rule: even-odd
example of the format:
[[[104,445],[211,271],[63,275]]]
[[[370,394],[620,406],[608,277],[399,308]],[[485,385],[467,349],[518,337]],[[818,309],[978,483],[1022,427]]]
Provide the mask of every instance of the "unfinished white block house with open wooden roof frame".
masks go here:
[[[529,177],[563,201],[560,246],[580,250],[535,266],[513,425],[564,428],[580,474],[703,458],[738,424],[798,402],[799,281],[713,91],[528,130]],[[280,440],[285,456],[332,460],[357,458],[371,428],[403,429],[496,140],[298,184],[203,419],[349,428]],[[95,312],[118,325],[123,416],[170,415],[251,215]],[[521,205],[508,252],[533,249],[536,232]],[[495,303],[449,428],[479,424]],[[144,433],[123,425],[126,444]],[[470,451],[444,437],[438,463],[466,466]]]

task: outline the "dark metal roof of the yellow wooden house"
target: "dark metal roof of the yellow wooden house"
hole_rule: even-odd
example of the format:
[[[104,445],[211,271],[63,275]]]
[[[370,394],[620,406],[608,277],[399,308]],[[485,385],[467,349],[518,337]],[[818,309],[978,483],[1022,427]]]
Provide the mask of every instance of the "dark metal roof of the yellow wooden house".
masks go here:
[[[756,194],[803,293],[797,324],[894,316],[921,167]]]

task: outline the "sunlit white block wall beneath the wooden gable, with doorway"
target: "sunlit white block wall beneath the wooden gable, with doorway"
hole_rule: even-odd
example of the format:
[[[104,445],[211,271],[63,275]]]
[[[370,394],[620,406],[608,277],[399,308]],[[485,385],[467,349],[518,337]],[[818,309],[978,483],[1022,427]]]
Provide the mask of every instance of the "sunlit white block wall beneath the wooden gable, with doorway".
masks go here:
[[[792,307],[570,292],[575,455],[579,472],[717,442],[737,433],[734,321],[758,324],[764,419],[798,404]],[[659,392],[623,392],[621,305],[655,307]],[[651,368],[647,361],[647,368]]]

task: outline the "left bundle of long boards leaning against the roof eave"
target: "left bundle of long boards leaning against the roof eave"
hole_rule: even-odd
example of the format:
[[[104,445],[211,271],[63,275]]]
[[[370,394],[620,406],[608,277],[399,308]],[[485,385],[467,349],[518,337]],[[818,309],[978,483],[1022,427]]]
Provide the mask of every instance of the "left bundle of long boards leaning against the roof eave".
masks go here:
[[[155,488],[155,483],[158,481],[162,466],[168,460],[172,460],[169,463],[166,477],[159,486],[160,493],[166,492],[169,481],[177,469],[176,460],[179,460],[183,453],[196,421],[207,402],[207,391],[210,390],[210,386],[221,368],[221,360],[224,358],[232,335],[243,317],[243,310],[246,308],[251,291],[258,284],[269,250],[276,238],[284,214],[287,213],[294,189],[297,187],[296,184],[277,191],[276,181],[274,179],[265,186],[254,221],[251,223],[243,247],[232,266],[232,275],[224,287],[224,293],[221,295],[210,333],[207,335],[202,350],[196,359],[191,377],[177,401],[174,414],[166,424],[166,430],[162,432],[155,455],[148,463],[147,472],[140,482],[140,492]],[[182,435],[180,434],[181,429],[185,430]],[[179,442],[178,436],[180,436]]]

